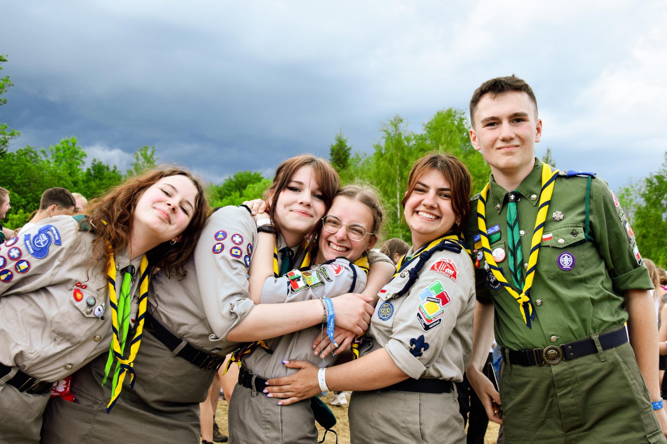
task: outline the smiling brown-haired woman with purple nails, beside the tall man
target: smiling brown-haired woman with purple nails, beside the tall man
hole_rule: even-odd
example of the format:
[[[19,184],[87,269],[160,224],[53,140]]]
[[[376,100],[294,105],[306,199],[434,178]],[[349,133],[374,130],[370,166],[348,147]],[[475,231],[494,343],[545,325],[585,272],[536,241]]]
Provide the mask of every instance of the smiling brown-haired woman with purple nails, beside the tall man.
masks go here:
[[[453,382],[472,353],[474,266],[459,237],[471,182],[454,156],[416,162],[402,201],[412,248],[378,294],[362,357],[325,370],[290,361],[300,370],[268,381],[274,398],[287,405],[321,390],[353,390],[355,444],[466,441]]]

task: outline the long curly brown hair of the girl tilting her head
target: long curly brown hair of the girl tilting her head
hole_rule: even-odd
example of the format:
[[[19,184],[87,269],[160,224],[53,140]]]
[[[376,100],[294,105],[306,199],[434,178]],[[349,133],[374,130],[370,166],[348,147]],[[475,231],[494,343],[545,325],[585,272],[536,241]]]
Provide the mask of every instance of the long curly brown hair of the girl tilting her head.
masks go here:
[[[209,213],[209,205],[199,179],[187,170],[169,166],[161,166],[148,170],[140,176],[127,178],[122,184],[111,188],[106,196],[93,199],[87,206],[86,214],[89,215],[90,225],[97,236],[93,240],[95,260],[103,260],[105,272],[109,268],[111,253],[119,254],[127,249],[132,232],[134,210],[141,194],[161,178],[177,175],[189,178],[197,188],[194,214],[187,228],[181,233],[180,242],[173,246],[169,242],[163,242],[146,255],[151,266],[161,268],[167,276],[173,273],[179,278],[185,277],[183,266],[197,246],[199,234],[201,234]],[[82,225],[85,223],[85,220],[81,221]],[[111,251],[107,249],[107,244],[112,246]]]

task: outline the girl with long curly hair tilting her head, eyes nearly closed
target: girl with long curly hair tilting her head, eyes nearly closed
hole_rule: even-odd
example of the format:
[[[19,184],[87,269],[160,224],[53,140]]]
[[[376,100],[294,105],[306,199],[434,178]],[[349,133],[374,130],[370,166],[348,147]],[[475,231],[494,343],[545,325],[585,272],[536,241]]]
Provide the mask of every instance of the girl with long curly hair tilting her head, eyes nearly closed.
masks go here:
[[[0,443],[38,443],[52,385],[71,399],[69,375],[97,355],[109,361],[108,385],[131,379],[141,341],[125,339],[143,328],[151,266],[183,276],[206,212],[189,172],[152,170],[87,217],[48,218],[0,246]],[[123,346],[121,361],[109,350]]]

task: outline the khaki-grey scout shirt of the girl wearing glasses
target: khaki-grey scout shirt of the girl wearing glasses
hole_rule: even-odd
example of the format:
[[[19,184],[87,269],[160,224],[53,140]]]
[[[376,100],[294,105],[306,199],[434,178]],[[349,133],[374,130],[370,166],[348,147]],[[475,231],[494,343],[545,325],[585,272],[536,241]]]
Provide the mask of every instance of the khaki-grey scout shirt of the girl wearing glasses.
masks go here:
[[[330,264],[311,267],[310,270],[291,270],[281,278],[268,278],[261,293],[261,304],[283,304],[305,300],[333,298],[348,292],[362,292],[366,288],[366,273],[350,261],[338,258]],[[243,358],[243,365],[251,373],[267,379],[296,373],[281,363],[283,359],[308,361],[318,367],[328,367],[334,362],[329,355],[323,361],[313,355],[313,341],[318,335],[326,335],[321,326],[313,326],[265,341],[273,350],[268,353],[257,347],[251,355]]]

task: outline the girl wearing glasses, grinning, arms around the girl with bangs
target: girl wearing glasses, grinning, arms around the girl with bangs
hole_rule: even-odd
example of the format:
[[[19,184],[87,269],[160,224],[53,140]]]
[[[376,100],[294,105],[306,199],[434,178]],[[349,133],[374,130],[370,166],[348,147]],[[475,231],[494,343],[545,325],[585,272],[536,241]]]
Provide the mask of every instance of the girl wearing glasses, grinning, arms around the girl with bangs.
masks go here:
[[[344,186],[336,193],[328,214],[322,219],[313,249],[313,263],[317,266],[292,270],[281,278],[273,277],[271,270],[271,246],[275,238],[260,233],[250,268],[251,298],[257,303],[277,304],[364,291],[368,273],[366,256],[378,240],[382,219],[380,198],[370,186]],[[380,257],[382,264],[378,262],[378,265],[382,268],[377,273],[374,270],[375,284],[368,287],[372,294],[376,294],[395,271],[389,258]],[[375,259],[377,262],[378,258]],[[229,403],[230,443],[317,442],[316,415],[310,400],[287,407],[281,405],[280,399],[267,397],[262,392],[266,379],[295,372],[283,365],[290,359],[303,359],[317,367],[333,364],[334,357],[324,357],[331,347],[322,355],[313,353],[313,341],[326,335],[322,329],[325,330],[323,324],[269,339],[266,345],[273,353],[255,349],[243,359],[240,385],[235,387]],[[335,354],[346,349],[356,337],[343,330],[337,330],[334,335],[336,343],[340,344]],[[317,411],[317,405],[314,408]]]

